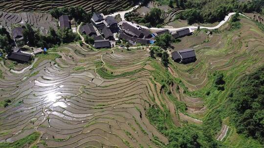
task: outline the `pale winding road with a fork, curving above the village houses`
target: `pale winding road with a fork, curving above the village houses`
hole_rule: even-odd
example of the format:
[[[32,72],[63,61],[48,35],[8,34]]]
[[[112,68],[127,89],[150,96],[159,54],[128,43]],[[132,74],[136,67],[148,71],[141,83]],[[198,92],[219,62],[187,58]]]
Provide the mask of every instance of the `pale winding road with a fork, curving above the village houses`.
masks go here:
[[[129,12],[132,12],[133,10],[135,10],[137,7],[139,7],[139,5],[136,5],[134,7],[132,7],[131,9],[127,10],[127,11],[119,11],[119,12],[115,12],[113,14],[110,14],[110,15],[106,15],[105,17],[107,16],[112,16],[112,17],[115,17],[116,15],[120,15],[122,21],[125,21],[129,24],[131,24],[132,26],[136,27],[138,24],[135,24],[135,23],[132,23],[130,21],[126,21],[125,19],[125,14],[126,13],[129,13]],[[204,27],[204,26],[200,26],[200,29],[209,29],[209,30],[213,30],[213,29],[218,29],[219,27],[221,27],[224,23],[226,23],[230,18],[231,16],[233,16],[234,14],[236,14],[235,12],[231,12],[229,13],[227,16],[225,16],[224,20],[220,21],[220,23],[215,26],[215,27]],[[245,15],[241,14],[240,15],[246,17]],[[246,17],[248,18],[248,17]],[[163,30],[163,29],[168,29],[170,31],[177,31],[177,30],[180,30],[180,29],[183,29],[183,28],[189,28],[191,31],[194,31],[196,29],[198,29],[198,26],[186,26],[186,27],[180,27],[180,28],[148,28],[146,26],[142,26],[142,25],[139,25],[141,26],[141,28],[145,28],[145,29],[150,29],[150,30]]]

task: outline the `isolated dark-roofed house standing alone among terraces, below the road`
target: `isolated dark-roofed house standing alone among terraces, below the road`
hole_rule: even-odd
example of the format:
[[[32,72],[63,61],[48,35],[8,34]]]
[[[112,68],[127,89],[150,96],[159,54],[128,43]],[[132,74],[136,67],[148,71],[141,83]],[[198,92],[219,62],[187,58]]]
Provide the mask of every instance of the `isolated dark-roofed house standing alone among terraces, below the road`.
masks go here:
[[[172,52],[172,58],[175,62],[190,63],[196,60],[194,49],[184,49]]]

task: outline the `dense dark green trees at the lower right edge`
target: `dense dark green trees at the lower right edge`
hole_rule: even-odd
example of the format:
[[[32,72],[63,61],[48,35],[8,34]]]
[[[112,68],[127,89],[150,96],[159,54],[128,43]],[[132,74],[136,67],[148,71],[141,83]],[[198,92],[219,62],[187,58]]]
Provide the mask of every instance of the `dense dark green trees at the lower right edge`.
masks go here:
[[[243,77],[232,90],[231,119],[237,132],[264,144],[264,66]]]

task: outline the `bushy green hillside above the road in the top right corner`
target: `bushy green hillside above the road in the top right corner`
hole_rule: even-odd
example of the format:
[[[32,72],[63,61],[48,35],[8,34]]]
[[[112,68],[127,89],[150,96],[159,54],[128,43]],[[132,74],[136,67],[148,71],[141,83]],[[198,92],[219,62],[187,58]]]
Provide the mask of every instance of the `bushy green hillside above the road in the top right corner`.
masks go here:
[[[221,21],[229,12],[263,13],[264,10],[263,0],[180,0],[179,3],[186,9],[179,18],[187,19],[189,24]]]

